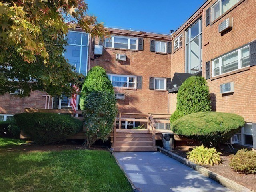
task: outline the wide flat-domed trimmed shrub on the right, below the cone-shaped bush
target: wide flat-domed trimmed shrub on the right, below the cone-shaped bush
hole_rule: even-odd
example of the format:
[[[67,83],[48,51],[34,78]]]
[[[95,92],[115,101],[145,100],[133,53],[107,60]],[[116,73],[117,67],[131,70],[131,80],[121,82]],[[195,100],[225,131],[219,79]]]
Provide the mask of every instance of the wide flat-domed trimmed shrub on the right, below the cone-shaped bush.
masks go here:
[[[244,118],[233,113],[198,112],[185,115],[171,124],[177,135],[202,141],[205,146],[218,146],[244,126]]]

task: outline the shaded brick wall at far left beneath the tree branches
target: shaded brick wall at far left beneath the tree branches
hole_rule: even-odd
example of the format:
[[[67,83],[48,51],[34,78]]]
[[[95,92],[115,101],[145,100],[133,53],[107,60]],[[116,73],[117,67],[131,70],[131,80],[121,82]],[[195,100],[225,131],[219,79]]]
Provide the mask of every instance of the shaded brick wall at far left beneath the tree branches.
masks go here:
[[[0,95],[0,114],[23,113],[26,107],[45,108],[45,92],[32,91],[30,97],[21,98],[17,95]],[[47,106],[48,107],[48,106]],[[52,99],[50,99],[50,108]]]

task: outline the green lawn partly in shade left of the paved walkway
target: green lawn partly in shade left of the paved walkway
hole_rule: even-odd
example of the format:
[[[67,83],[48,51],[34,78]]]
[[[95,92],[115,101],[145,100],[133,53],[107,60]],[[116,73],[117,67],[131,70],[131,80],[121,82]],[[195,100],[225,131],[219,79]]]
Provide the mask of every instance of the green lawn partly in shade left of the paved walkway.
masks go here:
[[[100,150],[2,151],[0,174],[0,191],[132,191],[115,159]]]

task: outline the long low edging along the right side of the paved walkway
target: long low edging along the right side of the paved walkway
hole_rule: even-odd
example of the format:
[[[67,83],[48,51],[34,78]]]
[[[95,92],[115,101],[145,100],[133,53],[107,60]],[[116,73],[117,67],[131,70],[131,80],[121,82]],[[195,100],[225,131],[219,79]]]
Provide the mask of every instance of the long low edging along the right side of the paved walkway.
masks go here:
[[[193,162],[191,162],[190,160],[187,160],[186,158],[183,158],[181,156],[178,156],[177,154],[174,154],[173,152],[170,152],[168,150],[165,150],[162,147],[157,146],[158,150],[160,150],[160,152],[162,152],[163,154],[166,154],[167,156],[179,161],[180,163],[189,166],[190,168],[200,172],[201,174],[219,182],[220,184],[222,184],[223,186],[230,188],[233,191],[244,191],[244,192],[249,192],[251,191],[250,189],[228,179],[225,178],[224,176],[221,176],[219,174],[216,174],[200,165],[194,164]]]

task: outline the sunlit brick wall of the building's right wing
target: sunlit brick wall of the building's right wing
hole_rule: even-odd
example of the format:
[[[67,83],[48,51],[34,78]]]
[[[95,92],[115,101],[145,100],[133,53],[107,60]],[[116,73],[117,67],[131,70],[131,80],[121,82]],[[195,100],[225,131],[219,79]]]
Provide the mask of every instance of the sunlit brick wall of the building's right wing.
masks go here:
[[[206,9],[216,1],[207,2],[182,25],[172,36],[172,42],[183,33],[183,46],[172,54],[171,76],[175,72],[184,72],[185,34],[184,31],[202,16],[202,72],[205,77],[205,63],[215,57],[228,53],[253,40],[256,40],[256,3],[255,0],[240,0],[233,8],[224,13],[209,26],[205,25]],[[233,17],[233,28],[225,34],[218,32],[220,22]],[[210,87],[212,110],[242,115],[247,122],[256,122],[256,66],[247,67],[231,75],[207,80]],[[211,74],[212,75],[212,74]],[[220,84],[234,82],[234,93],[220,94]],[[176,109],[176,94],[171,94],[171,113]]]

